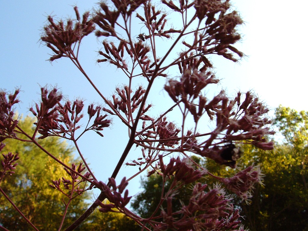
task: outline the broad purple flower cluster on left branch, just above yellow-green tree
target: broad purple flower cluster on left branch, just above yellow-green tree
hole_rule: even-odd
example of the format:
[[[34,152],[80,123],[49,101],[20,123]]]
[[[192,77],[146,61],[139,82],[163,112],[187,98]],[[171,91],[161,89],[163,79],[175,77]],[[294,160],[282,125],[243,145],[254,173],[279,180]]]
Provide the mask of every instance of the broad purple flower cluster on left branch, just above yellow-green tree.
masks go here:
[[[40,105],[35,104],[36,111],[32,107],[29,109],[38,120],[35,124],[38,132],[42,135],[39,139],[44,139],[47,136],[61,136],[72,140],[75,131],[81,128],[78,123],[83,118],[83,100],[76,99],[73,103],[67,101],[62,105],[60,103],[62,94],[58,93],[56,88],[48,91],[47,88],[42,87],[41,91],[42,102]],[[101,115],[102,111],[104,109],[100,106],[94,108],[94,104],[89,105],[89,122],[95,114],[96,117],[93,124],[85,128],[84,131],[94,130],[103,136],[99,131],[109,127],[111,120],[106,119],[107,115]]]

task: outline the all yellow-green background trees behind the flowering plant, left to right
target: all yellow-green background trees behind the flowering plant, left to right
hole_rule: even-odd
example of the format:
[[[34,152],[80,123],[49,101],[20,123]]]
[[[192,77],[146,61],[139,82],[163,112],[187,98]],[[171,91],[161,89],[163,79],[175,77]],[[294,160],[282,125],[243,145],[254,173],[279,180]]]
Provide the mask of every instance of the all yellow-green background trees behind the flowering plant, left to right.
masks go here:
[[[33,118],[26,117],[21,120],[20,126],[24,130],[34,129],[33,122]],[[283,142],[276,143],[273,151],[262,151],[244,145],[242,146],[244,154],[238,163],[243,168],[252,162],[259,164],[265,175],[264,185],[256,185],[250,204],[235,195],[233,202],[245,214],[242,223],[252,231],[278,231],[285,227],[292,227],[292,230],[308,230],[306,224],[308,219],[308,138],[307,130],[304,129],[308,124],[307,112],[297,112],[280,106],[275,111],[274,123],[284,136]],[[58,137],[49,137],[40,142],[56,153],[58,158],[66,162],[74,160],[73,149]],[[2,153],[6,150],[18,153],[20,160],[15,173],[4,178],[1,184],[3,190],[37,227],[42,230],[56,230],[65,206],[63,204],[65,198],[63,194],[48,185],[51,184],[51,180],[62,176],[65,170],[59,168],[31,143],[10,139],[7,140]],[[192,159],[216,176],[229,177],[235,171],[228,167],[221,168],[221,165],[212,160],[205,161],[196,156],[192,156]],[[143,178],[141,186],[144,191],[137,195],[132,208],[141,217],[150,217],[155,210],[156,215],[159,215],[160,209],[157,209],[156,205],[159,204],[161,190],[164,188],[167,192],[171,182],[171,180],[163,182],[159,175]],[[216,182],[215,179],[206,178],[202,179],[202,183],[211,185]],[[188,203],[188,195],[191,192],[191,185],[176,189],[174,197],[178,200],[177,203],[172,204],[175,211],[180,208],[180,203]],[[88,203],[76,197],[71,205],[65,224],[79,216],[80,208],[85,208]],[[164,201],[161,207],[166,206],[167,202]],[[12,230],[19,229],[21,226],[24,227],[23,230],[31,230],[31,227],[21,219],[3,196],[0,196],[0,224]],[[114,231],[140,229],[140,226],[122,213],[99,213],[96,210],[87,222],[79,226],[78,230],[105,230],[106,227]]]

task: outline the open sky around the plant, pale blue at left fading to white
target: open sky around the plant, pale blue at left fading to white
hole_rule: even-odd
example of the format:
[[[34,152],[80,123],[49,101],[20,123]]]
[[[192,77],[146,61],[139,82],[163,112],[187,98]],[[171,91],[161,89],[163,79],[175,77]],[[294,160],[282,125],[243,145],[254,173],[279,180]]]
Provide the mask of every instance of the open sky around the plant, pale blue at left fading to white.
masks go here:
[[[99,100],[90,84],[68,59],[58,59],[53,63],[46,61],[50,57],[48,54],[52,52],[39,41],[48,15],[74,17],[72,6],[77,5],[82,14],[85,10],[91,10],[95,2],[0,1],[0,88],[14,91],[15,87],[19,87],[22,90],[19,94],[22,103],[17,107],[19,113],[29,114],[27,108],[38,101],[40,86],[46,84],[59,87],[63,95],[71,100],[78,97],[86,99],[86,105]],[[308,111],[308,48],[305,45],[308,2],[231,2],[245,21],[245,25],[240,28],[243,39],[235,47],[247,56],[240,63],[215,59],[216,76],[221,79],[219,90],[225,89],[230,96],[235,95],[238,90],[253,90],[271,109],[282,104],[298,111]],[[138,30],[141,29],[138,27]],[[138,33],[139,31],[136,32]],[[127,79],[113,66],[96,64],[98,57],[95,51],[102,47],[99,39],[89,36],[82,43],[81,63],[84,64],[84,69],[105,95],[113,94],[115,86],[121,86],[123,80]],[[164,81],[160,81],[161,85],[157,85],[153,92],[157,96],[157,102],[168,96],[162,90],[163,83]],[[163,105],[156,103],[156,107],[158,106]],[[161,111],[158,108],[155,113]],[[81,151],[91,163],[90,166],[99,180],[104,182],[111,175],[128,140],[127,130],[118,126],[118,121],[114,122],[112,128],[103,131],[105,137],[95,136],[92,132],[80,143]],[[134,153],[141,155],[140,152],[133,151],[128,160],[136,159]],[[117,181],[125,175],[132,175],[135,170],[137,167],[123,167]],[[137,176],[129,184],[132,194],[138,192],[139,180],[140,177]]]

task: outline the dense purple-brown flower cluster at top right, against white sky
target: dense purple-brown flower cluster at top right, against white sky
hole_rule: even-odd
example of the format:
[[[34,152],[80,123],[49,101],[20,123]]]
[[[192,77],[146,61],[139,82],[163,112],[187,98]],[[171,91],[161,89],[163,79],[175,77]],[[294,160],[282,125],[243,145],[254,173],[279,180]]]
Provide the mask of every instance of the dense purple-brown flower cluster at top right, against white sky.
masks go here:
[[[183,45],[189,49],[186,52],[180,53],[179,59],[181,61],[178,63],[180,71],[181,66],[185,65],[184,63],[192,60],[192,58],[188,58],[189,56],[186,54],[194,50],[202,57],[195,60],[198,60],[198,62],[204,62],[204,66],[201,67],[200,71],[206,70],[207,67],[213,67],[204,55],[217,54],[226,59],[232,60],[233,62],[238,61],[233,53],[237,54],[239,58],[244,56],[241,51],[238,51],[232,46],[232,44],[241,39],[241,35],[236,31],[236,27],[241,25],[243,21],[236,11],[229,12],[231,6],[229,1],[198,0],[189,4],[185,1],[179,1],[180,6],[176,6],[172,1],[167,2],[162,0],[162,3],[172,10],[178,11],[182,14],[184,14],[188,8],[193,6],[196,10],[195,17],[199,19],[200,23],[205,20],[205,27],[201,27],[194,32],[194,37],[191,43],[183,41]],[[194,54],[193,56],[195,57],[197,54]]]

